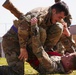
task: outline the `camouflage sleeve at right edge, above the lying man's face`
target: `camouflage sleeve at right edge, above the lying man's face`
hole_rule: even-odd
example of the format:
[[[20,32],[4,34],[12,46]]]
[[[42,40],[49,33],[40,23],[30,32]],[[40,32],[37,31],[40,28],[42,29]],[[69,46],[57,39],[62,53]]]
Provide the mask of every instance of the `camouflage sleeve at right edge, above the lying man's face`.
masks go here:
[[[70,37],[62,35],[62,37],[60,38],[60,41],[63,44],[63,46],[65,47],[66,51],[68,51],[68,52],[76,51],[76,44],[75,44],[75,41],[74,41],[72,35]]]

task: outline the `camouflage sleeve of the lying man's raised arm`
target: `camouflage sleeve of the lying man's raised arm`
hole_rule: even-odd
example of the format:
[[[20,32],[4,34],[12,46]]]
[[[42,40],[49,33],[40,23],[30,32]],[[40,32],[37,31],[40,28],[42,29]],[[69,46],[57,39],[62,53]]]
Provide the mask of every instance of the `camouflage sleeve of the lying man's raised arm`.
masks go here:
[[[38,58],[40,64],[49,72],[51,72],[53,69],[51,67],[51,64],[53,61],[50,60],[48,54],[45,52],[41,41],[40,41],[40,32],[39,27],[37,25],[31,26],[31,32],[32,32],[32,49],[33,53]]]

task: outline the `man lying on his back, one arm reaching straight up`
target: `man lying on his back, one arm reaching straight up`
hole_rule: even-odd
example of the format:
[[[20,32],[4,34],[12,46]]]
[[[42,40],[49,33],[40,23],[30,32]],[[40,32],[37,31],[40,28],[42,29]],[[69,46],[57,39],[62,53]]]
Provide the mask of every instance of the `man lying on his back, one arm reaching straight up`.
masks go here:
[[[36,21],[36,20],[35,20]],[[32,23],[32,48],[34,54],[37,56],[38,59],[35,61],[38,62],[38,71],[41,74],[69,74],[73,70],[76,70],[76,52],[68,53],[63,56],[55,56],[55,55],[48,55],[43,46],[40,45],[40,31],[37,30],[38,26],[35,23]],[[35,32],[37,30],[37,32]],[[45,65],[46,64],[46,65]],[[45,68],[46,67],[46,68]]]

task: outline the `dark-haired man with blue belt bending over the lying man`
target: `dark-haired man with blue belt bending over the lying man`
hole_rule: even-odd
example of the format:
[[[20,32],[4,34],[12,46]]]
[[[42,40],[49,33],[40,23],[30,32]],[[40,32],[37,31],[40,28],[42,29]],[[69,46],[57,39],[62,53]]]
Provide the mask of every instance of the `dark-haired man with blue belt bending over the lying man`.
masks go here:
[[[29,62],[34,69],[38,70],[37,68],[39,66],[36,66],[34,61],[32,62],[32,60],[36,59],[36,55],[32,52],[31,18],[38,18],[38,26],[40,29],[40,39],[42,45],[44,45],[47,35],[46,32],[49,27],[54,26],[56,28],[56,37],[53,39],[54,43],[52,42],[52,44],[55,45],[55,43],[59,40],[61,33],[63,32],[63,26],[61,24],[55,23],[66,17],[68,13],[68,8],[64,3],[57,3],[52,7],[32,10],[24,17],[20,17],[20,21],[15,21],[11,29],[3,36],[2,45],[8,66],[0,67],[2,73],[6,73],[6,75],[23,75],[23,60],[27,58],[27,62]]]

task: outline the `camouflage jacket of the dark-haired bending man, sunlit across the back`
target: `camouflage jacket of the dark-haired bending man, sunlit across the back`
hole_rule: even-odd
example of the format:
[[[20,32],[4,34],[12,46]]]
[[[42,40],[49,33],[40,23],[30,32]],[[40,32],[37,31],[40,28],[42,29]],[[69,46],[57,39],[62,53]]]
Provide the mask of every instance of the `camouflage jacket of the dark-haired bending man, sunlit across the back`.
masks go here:
[[[25,15],[25,18],[21,21],[20,25],[18,26],[18,37],[19,37],[20,47],[26,47],[26,44],[28,43],[29,38],[31,37],[30,20],[32,17],[37,17],[38,26],[42,27],[45,30],[50,25],[52,25],[50,21],[50,14],[48,13],[48,9],[49,7],[33,9]]]

